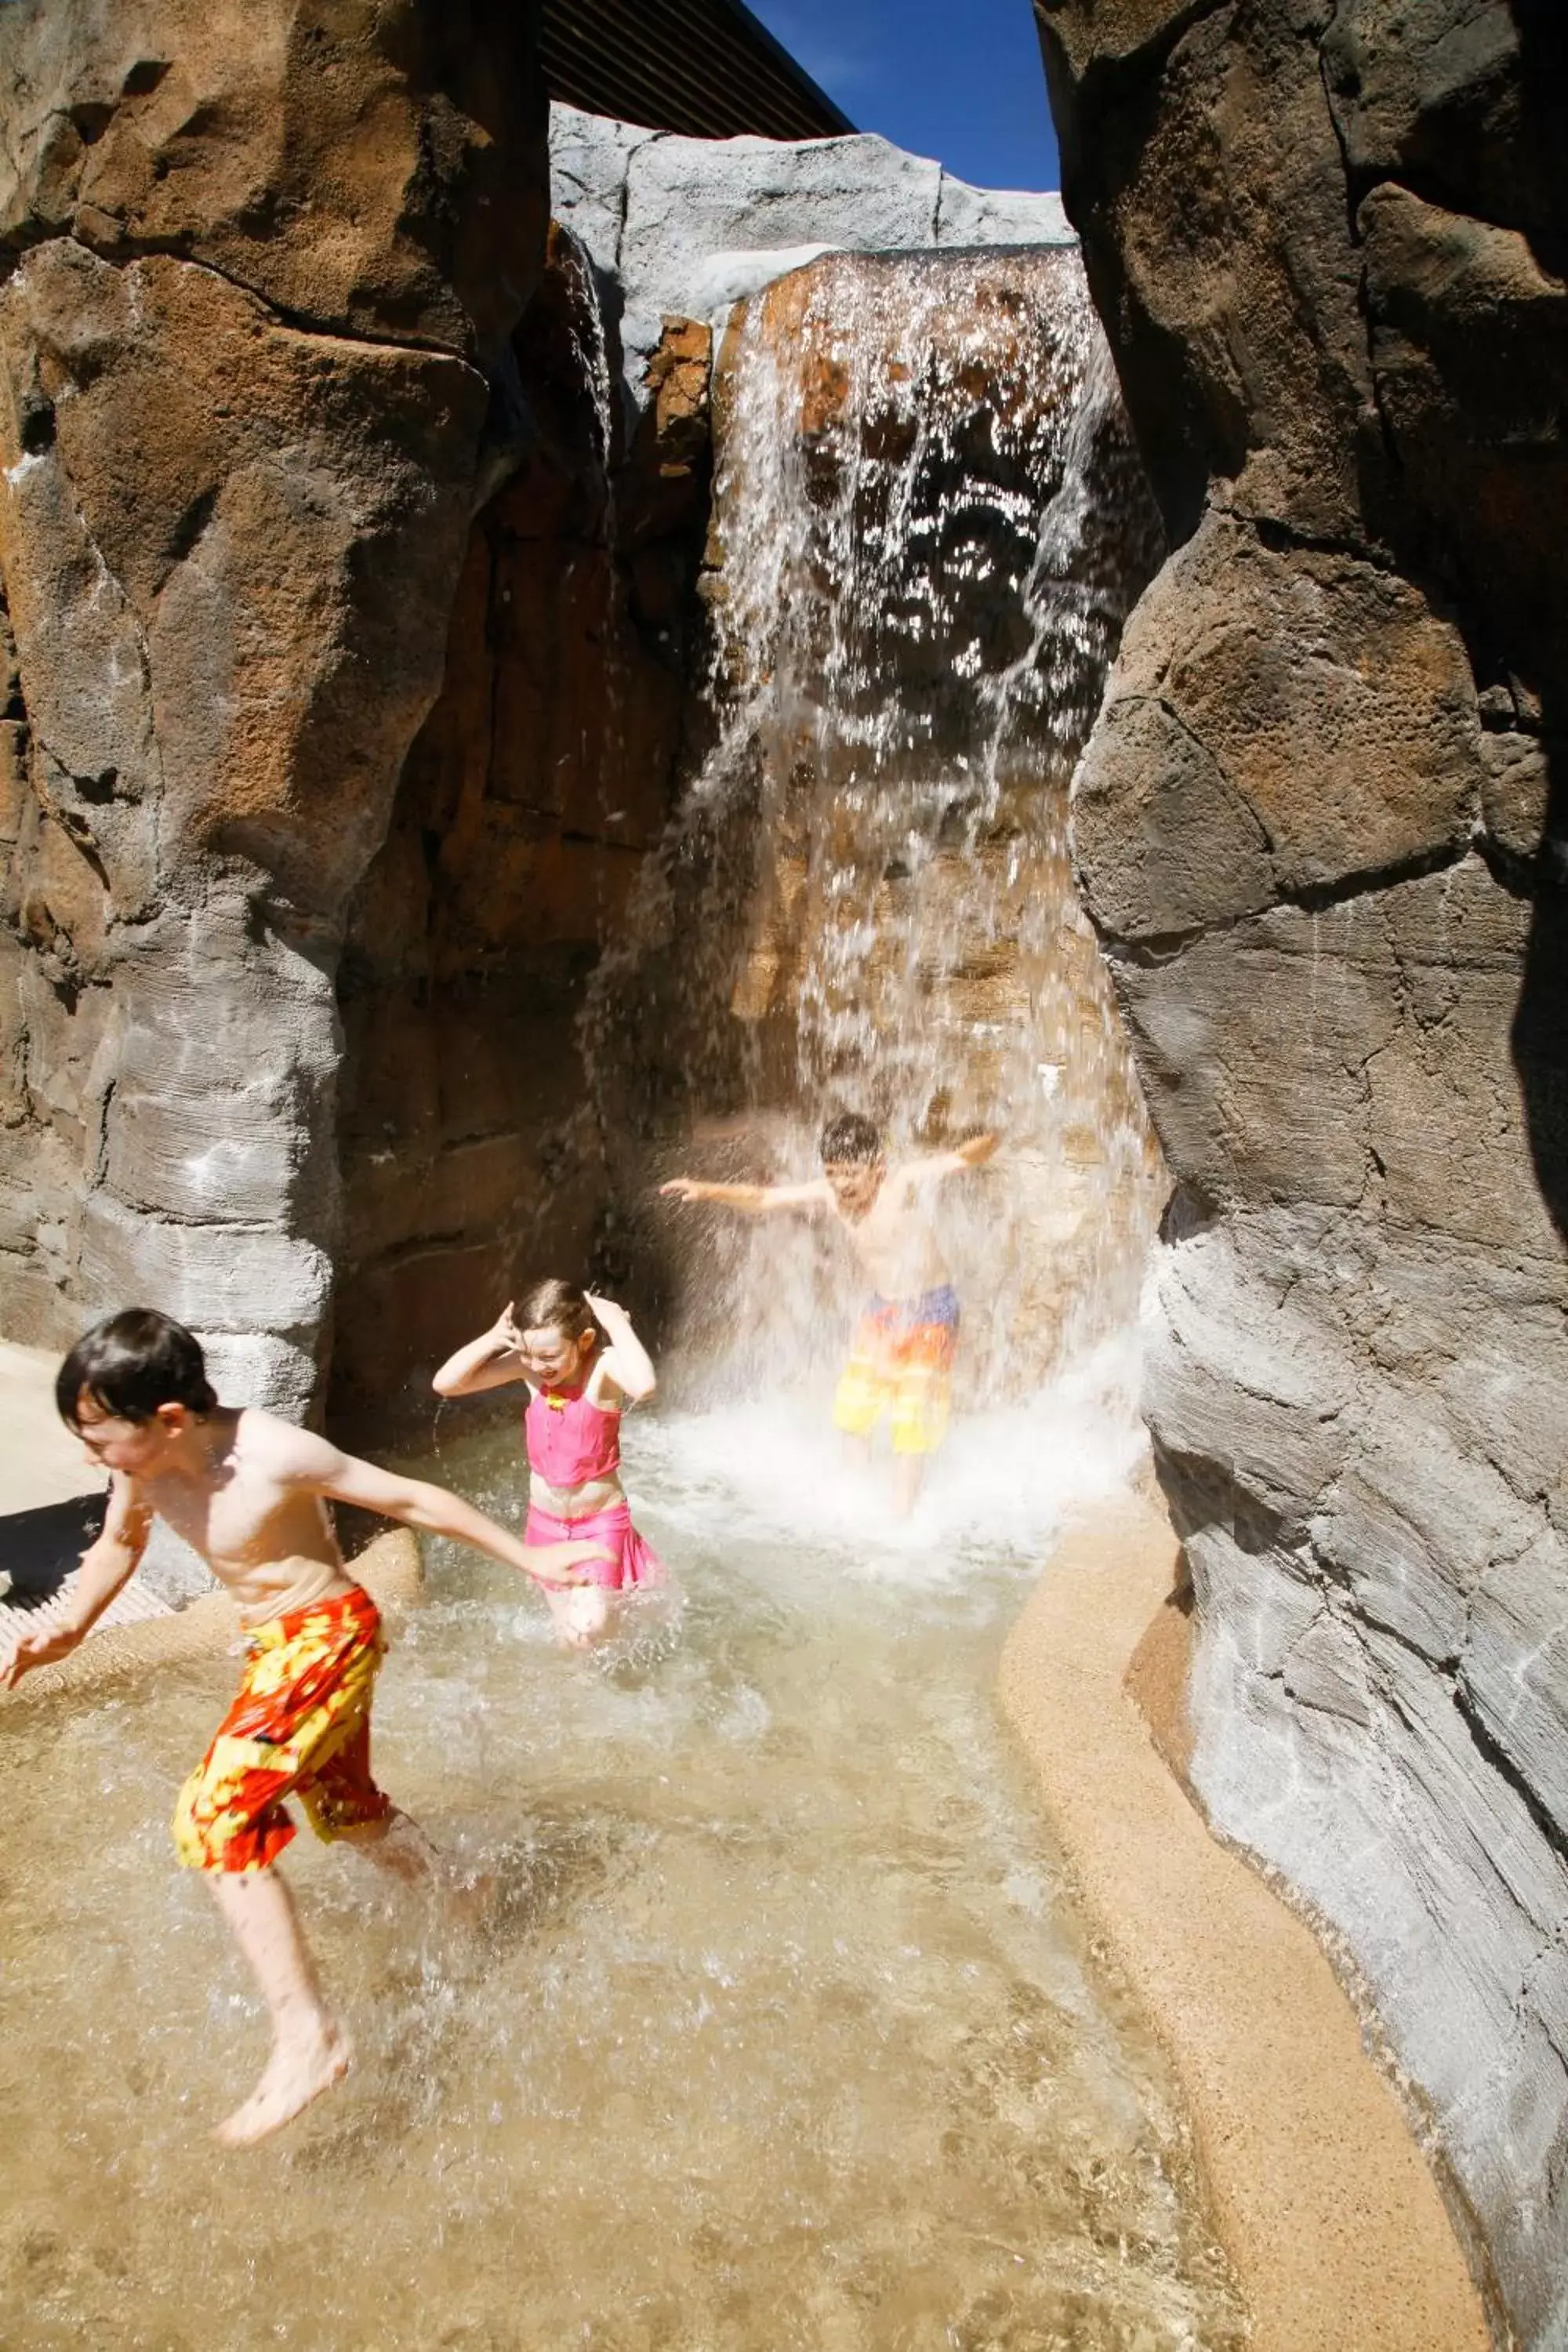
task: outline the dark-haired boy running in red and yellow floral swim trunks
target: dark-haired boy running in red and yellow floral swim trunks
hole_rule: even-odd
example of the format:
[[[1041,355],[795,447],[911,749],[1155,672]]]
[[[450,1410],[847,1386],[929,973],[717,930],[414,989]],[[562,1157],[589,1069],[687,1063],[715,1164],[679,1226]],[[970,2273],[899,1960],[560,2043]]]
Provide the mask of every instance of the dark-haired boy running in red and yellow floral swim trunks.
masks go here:
[[[71,1616],[24,1635],[0,1663],[0,1686],[75,1649],[134,1573],[155,1517],[200,1552],[249,1635],[240,1696],[174,1818],[179,1858],[209,1875],[273,2018],[261,2082],[219,2126],[226,2145],[242,2147],[331,2089],[353,2056],[275,1870],[294,1837],[284,1797],[299,1797],[317,1837],[350,1839],[402,1879],[442,1872],[418,1825],[371,1778],[381,1616],[343,1566],[327,1498],[456,1536],[548,1585],[576,1583],[604,1548],[529,1548],[444,1486],[376,1470],[273,1414],[219,1404],[200,1343],[153,1308],[87,1331],[59,1369],[54,1399],[110,1472],[108,1512],[82,1555]]]

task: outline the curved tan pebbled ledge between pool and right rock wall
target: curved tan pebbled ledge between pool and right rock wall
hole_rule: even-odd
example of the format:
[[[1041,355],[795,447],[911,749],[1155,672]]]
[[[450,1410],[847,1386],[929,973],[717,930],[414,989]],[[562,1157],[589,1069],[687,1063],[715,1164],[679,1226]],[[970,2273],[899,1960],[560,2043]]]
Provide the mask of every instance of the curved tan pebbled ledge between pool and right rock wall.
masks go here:
[[[1309,1929],[1161,1762],[1185,1743],[1178,1545],[1138,1496],[1060,1545],[1001,1658],[1084,1907],[1164,2042],[1255,2352],[1486,2352],[1481,2296]],[[1135,1661],[1135,1665],[1133,1665]]]

